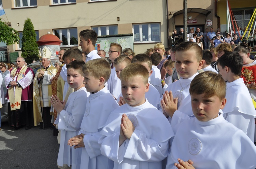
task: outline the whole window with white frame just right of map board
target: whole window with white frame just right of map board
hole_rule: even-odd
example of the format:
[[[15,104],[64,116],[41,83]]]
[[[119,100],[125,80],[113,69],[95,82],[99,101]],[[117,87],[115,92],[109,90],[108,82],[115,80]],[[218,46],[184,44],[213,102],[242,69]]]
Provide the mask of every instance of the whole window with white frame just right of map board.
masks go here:
[[[132,31],[134,43],[161,41],[161,31],[159,23],[133,24]]]

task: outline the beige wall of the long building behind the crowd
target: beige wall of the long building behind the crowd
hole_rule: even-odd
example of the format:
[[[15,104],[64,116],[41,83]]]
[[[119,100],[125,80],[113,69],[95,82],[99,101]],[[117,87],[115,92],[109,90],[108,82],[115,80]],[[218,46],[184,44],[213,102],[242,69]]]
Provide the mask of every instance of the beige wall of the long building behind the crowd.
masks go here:
[[[53,29],[69,27],[77,27],[79,34],[84,29],[99,25],[118,25],[118,34],[130,34],[133,23],[157,22],[161,26],[161,42],[167,48],[165,0],[88,2],[89,0],[76,0],[76,4],[51,5],[51,0],[38,0],[37,7],[13,9],[13,0],[3,0],[3,6],[15,30],[23,31],[24,21],[29,17],[34,29],[39,30],[39,36],[47,32],[52,33]],[[147,10],[153,6],[158,10],[154,12]],[[120,21],[117,21],[117,17]],[[17,26],[17,23],[20,26]],[[144,53],[154,44],[134,44],[134,51]],[[12,51],[15,49],[13,45]]]

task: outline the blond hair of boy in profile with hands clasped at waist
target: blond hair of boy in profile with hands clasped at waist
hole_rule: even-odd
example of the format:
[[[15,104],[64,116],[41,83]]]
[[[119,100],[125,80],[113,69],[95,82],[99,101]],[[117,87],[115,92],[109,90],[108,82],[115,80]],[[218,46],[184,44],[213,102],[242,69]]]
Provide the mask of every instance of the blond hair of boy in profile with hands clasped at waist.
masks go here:
[[[95,78],[103,77],[105,82],[108,81],[111,73],[110,64],[103,58],[89,60],[83,65],[83,73],[88,72]]]

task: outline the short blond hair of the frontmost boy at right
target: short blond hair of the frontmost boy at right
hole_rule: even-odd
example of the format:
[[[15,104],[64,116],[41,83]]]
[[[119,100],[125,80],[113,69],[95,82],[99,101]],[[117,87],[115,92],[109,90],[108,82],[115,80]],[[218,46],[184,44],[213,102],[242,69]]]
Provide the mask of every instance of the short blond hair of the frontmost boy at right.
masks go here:
[[[205,97],[216,95],[220,101],[226,96],[226,82],[221,74],[212,71],[199,73],[190,83],[190,95],[205,94]]]

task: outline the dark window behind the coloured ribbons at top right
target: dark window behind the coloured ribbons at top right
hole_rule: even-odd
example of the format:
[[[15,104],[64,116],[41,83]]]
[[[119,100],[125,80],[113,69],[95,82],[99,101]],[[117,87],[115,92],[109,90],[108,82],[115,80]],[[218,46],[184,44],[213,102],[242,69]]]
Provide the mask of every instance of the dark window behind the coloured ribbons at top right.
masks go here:
[[[249,9],[249,10],[232,10],[233,14],[234,14],[234,18],[236,18],[237,21],[237,26],[240,26],[244,29],[244,26],[247,26],[248,23],[250,22],[250,19],[253,15],[253,11],[254,9]],[[234,23],[234,20],[233,20]],[[254,25],[255,23],[255,19],[251,24]],[[248,29],[250,29],[251,24],[249,25]],[[235,25],[235,23],[234,23]]]

